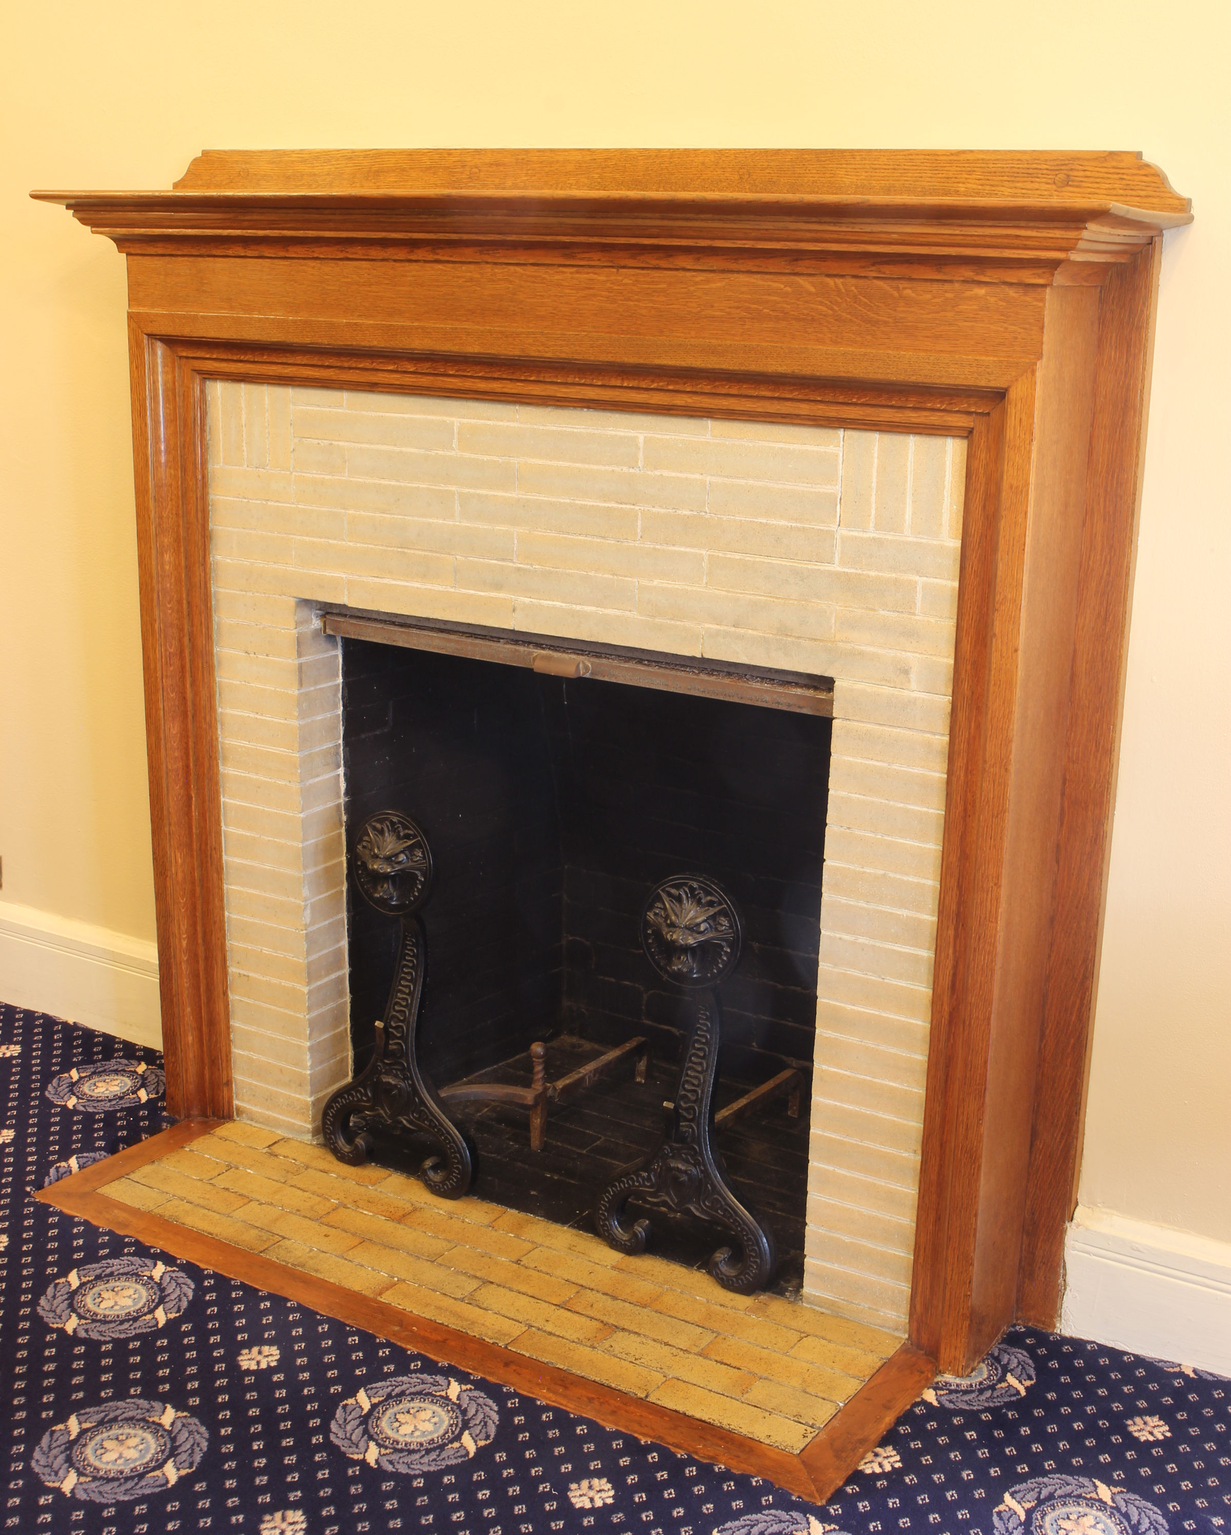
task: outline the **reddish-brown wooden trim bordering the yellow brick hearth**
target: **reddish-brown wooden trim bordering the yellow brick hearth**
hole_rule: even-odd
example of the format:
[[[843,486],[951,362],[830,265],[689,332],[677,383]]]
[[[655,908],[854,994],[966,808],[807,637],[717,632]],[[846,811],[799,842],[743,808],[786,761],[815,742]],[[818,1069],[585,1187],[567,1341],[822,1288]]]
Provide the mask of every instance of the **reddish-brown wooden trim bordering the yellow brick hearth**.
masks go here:
[[[364,1328],[378,1337],[427,1354],[442,1365],[474,1371],[488,1380],[525,1391],[568,1412],[597,1418],[606,1428],[655,1440],[683,1455],[729,1466],[732,1471],[766,1477],[801,1498],[824,1503],[841,1486],[864,1452],[875,1444],[893,1420],[910,1406],[936,1374],[935,1362],[910,1345],[903,1345],[829,1423],[801,1451],[792,1455],[729,1429],[703,1423],[671,1408],[625,1395],[554,1365],[543,1365],[525,1354],[470,1337],[456,1328],[416,1317],[401,1306],[361,1296],[315,1274],[287,1268],[273,1259],[233,1246],[218,1237],[192,1231],[157,1211],[135,1210],[98,1193],[149,1162],[155,1162],[193,1141],[207,1136],[221,1121],[192,1119],[147,1141],[127,1147],[103,1162],[95,1162],[49,1188],[35,1199],[68,1216],[121,1236],[135,1237],[172,1257],[243,1280],[258,1289],[284,1296],[348,1326]],[[390,1280],[393,1285],[394,1280]]]

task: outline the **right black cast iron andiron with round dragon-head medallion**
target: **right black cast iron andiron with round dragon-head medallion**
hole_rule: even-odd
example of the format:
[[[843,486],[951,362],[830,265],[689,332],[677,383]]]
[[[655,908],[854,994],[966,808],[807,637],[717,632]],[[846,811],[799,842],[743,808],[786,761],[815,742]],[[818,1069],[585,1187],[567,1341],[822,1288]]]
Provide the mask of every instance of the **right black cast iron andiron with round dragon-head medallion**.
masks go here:
[[[721,1038],[714,987],[738,964],[741,941],[740,915],[717,881],[674,875],[649,892],[642,910],[642,946],[665,981],[695,993],[692,1028],[666,1139],[648,1162],[603,1190],[594,1223],[599,1236],[622,1253],[643,1253],[649,1240],[645,1216],[632,1225],[623,1219],[629,1199],[723,1226],[734,1236],[737,1251],[718,1248],[709,1273],[724,1289],[749,1296],[774,1279],[774,1233],[731,1191],[721,1153],[712,1142]]]

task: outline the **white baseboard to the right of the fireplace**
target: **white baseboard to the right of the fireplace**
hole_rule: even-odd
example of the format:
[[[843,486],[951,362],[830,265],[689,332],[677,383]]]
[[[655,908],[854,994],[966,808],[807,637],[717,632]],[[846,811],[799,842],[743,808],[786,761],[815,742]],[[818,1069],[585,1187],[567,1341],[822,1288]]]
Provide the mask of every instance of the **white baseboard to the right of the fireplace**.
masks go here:
[[[1231,1242],[1079,1205],[1061,1329],[1231,1375]]]

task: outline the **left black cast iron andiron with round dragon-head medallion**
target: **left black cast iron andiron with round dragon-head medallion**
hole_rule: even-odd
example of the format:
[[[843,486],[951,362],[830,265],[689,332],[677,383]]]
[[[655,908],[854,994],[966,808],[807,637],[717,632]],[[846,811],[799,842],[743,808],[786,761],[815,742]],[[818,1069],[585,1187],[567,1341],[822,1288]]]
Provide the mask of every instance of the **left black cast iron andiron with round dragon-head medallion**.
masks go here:
[[[321,1116],[325,1145],[341,1162],[365,1162],[373,1131],[421,1131],[441,1148],[419,1168],[433,1194],[460,1199],[470,1188],[470,1150],[419,1070],[416,1030],[424,995],[427,942],[417,910],[431,886],[431,852],[422,830],[398,810],[379,810],[359,827],[355,883],[364,900],[402,924],[402,946],[385,1016],[376,1025],[368,1067],[339,1088]]]

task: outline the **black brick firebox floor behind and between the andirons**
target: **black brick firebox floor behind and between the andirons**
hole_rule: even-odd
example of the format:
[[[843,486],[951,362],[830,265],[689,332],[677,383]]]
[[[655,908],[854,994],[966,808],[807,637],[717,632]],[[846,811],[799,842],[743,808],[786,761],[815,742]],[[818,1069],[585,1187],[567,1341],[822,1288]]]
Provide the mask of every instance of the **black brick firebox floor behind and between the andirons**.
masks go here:
[[[603,1048],[573,1035],[548,1041],[548,1081],[585,1065]],[[470,1081],[530,1085],[530,1055],[503,1061]],[[530,1150],[530,1114],[525,1108],[456,1104],[451,1113],[476,1154],[471,1193],[510,1210],[592,1233],[591,1211],[602,1190],[660,1144],[663,1104],[675,1096],[677,1081],[678,1067],[657,1062],[652,1056],[645,1082],[632,1079],[631,1065],[623,1067],[619,1078],[597,1082],[573,1104],[548,1111],[542,1151]],[[721,1081],[715,1107],[723,1108],[755,1085]],[[737,1197],[774,1230],[778,1274],[771,1288],[780,1296],[797,1294],[803,1285],[807,1139],[807,1091],[797,1119],[790,1119],[786,1099],[780,1098],[728,1125],[715,1137]],[[382,1141],[375,1160],[413,1171],[425,1151],[425,1142],[394,1145]],[[663,1211],[642,1211],[634,1200],[629,1200],[628,1210],[634,1217],[649,1216],[649,1251],[688,1268],[705,1269],[711,1253],[723,1245],[715,1226]]]

